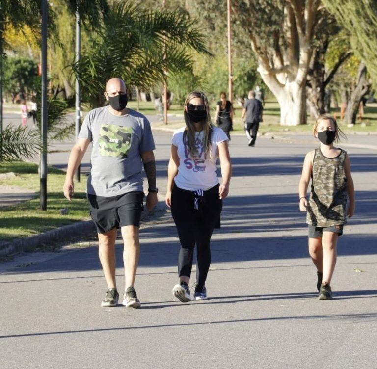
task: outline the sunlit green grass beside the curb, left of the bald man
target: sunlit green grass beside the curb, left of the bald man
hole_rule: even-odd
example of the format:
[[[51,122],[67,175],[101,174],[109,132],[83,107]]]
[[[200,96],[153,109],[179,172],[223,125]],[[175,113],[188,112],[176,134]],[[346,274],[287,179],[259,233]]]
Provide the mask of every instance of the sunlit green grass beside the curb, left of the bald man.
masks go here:
[[[71,202],[63,196],[65,173],[59,169],[48,169],[47,211],[40,210],[38,166],[32,163],[1,163],[0,172],[15,172],[18,175],[1,181],[3,186],[32,189],[36,198],[16,206],[0,208],[0,239],[27,237],[54,229],[75,221],[89,219],[88,202],[85,195],[86,177],[75,183],[75,195]],[[67,215],[59,210],[67,208]]]

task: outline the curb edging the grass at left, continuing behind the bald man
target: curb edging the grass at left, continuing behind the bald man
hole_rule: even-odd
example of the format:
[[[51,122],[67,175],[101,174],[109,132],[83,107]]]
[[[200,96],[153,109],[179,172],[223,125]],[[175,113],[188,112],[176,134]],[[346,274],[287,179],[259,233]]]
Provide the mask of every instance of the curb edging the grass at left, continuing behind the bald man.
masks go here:
[[[143,211],[140,221],[145,221],[156,212],[165,210],[164,202],[159,201],[152,211]],[[56,241],[70,241],[72,238],[97,235],[96,227],[91,220],[69,224],[55,228],[35,236],[16,238],[10,241],[0,242],[0,257],[8,256],[18,252],[33,251],[42,244],[51,244]]]

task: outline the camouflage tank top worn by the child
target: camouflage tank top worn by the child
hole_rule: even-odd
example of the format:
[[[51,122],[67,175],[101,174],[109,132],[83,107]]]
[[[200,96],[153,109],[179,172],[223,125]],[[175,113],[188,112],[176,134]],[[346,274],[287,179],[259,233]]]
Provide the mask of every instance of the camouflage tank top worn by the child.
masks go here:
[[[312,185],[306,223],[330,227],[347,223],[346,152],[326,158],[316,149],[312,167]]]

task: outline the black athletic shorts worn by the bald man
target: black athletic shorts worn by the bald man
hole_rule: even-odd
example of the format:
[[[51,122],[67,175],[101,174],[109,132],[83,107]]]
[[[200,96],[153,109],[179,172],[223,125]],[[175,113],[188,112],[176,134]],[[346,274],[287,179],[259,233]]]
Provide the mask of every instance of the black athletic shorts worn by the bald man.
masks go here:
[[[90,216],[98,233],[105,233],[123,226],[140,226],[144,192],[103,197],[87,194]]]

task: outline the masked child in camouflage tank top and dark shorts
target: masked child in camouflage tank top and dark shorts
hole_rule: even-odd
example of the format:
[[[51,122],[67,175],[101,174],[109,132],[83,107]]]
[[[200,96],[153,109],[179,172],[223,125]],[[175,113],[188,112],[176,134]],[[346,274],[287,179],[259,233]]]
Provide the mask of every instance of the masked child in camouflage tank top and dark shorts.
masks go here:
[[[355,210],[355,196],[347,153],[333,145],[344,136],[336,120],[321,115],[313,127],[320,147],[306,154],[299,183],[300,211],[309,225],[309,254],[317,267],[320,300],[332,298],[331,277],[336,264],[336,245],[343,225]],[[344,136],[345,137],[345,136]],[[309,201],[306,191],[312,180]],[[347,209],[347,198],[349,206]]]

